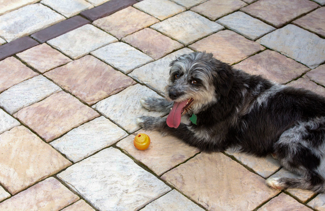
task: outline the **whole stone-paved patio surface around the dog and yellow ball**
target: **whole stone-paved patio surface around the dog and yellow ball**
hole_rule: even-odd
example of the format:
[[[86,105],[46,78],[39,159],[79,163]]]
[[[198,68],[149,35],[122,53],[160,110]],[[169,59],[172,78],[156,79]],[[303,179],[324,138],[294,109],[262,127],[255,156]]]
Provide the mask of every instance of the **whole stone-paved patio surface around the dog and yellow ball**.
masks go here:
[[[147,132],[177,55],[325,96],[325,0],[0,0],[0,210],[325,210],[271,155]]]

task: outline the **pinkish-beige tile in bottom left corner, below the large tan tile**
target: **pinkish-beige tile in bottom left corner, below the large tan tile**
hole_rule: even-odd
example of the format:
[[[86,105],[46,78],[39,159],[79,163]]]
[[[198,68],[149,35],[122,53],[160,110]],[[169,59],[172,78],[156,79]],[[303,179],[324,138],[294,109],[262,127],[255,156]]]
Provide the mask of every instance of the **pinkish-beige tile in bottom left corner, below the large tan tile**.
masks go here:
[[[79,197],[51,177],[0,204],[0,210],[60,210]]]

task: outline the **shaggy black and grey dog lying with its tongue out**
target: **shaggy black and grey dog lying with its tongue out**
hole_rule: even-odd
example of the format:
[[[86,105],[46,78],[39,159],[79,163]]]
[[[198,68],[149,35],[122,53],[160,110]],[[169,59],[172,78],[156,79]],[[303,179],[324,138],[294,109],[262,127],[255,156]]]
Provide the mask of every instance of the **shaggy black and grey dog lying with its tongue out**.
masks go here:
[[[269,187],[324,191],[325,98],[237,70],[212,53],[184,54],[170,67],[165,99],[140,100],[168,117],[139,117],[144,130],[173,135],[205,152],[271,153],[299,177],[271,177]],[[182,115],[191,117],[189,125],[181,123]]]

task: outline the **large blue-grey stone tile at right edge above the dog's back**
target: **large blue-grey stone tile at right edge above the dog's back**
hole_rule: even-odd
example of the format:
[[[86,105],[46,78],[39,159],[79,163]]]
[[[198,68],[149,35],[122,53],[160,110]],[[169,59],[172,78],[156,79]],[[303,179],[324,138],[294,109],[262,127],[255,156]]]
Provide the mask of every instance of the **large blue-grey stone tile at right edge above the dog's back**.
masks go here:
[[[256,42],[312,69],[325,61],[325,39],[292,24],[268,33]]]

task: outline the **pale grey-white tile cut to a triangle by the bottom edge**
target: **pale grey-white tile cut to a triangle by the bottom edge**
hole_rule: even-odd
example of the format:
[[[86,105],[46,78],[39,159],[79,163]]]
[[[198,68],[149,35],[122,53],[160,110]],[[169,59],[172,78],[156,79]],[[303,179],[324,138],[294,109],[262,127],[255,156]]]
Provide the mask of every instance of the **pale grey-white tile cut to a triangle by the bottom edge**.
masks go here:
[[[178,191],[172,190],[141,209],[141,211],[151,210],[203,211],[204,209],[191,202]]]

